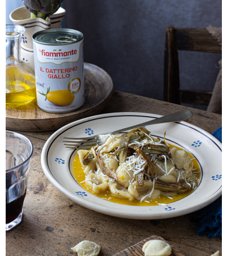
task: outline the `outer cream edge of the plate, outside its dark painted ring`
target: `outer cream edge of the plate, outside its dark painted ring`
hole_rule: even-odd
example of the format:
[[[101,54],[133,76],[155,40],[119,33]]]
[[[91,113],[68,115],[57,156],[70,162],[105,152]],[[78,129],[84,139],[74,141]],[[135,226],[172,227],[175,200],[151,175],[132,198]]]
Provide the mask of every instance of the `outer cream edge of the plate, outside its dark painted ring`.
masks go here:
[[[96,203],[88,202],[86,200],[83,200],[81,197],[75,197],[75,195],[72,192],[70,192],[66,188],[64,188],[54,178],[54,176],[51,174],[51,171],[47,167],[47,164],[45,163],[45,160],[46,160],[45,158],[47,156],[47,150],[48,150],[49,144],[53,143],[54,139],[57,136],[59,136],[61,133],[63,133],[64,131],[70,129],[71,127],[73,127],[75,125],[79,125],[82,122],[92,121],[92,120],[97,119],[97,118],[116,117],[116,116],[119,116],[119,115],[121,115],[121,116],[122,115],[140,116],[140,117],[142,116],[142,117],[151,117],[151,118],[158,118],[158,117],[162,117],[163,116],[163,115],[158,115],[158,114],[141,113],[141,112],[108,113],[108,114],[94,115],[92,117],[87,117],[87,118],[79,119],[78,121],[69,123],[68,125],[65,125],[64,127],[61,127],[60,129],[58,129],[56,132],[54,132],[51,135],[51,137],[49,137],[49,139],[45,143],[45,145],[43,147],[43,151],[41,153],[41,166],[43,168],[44,174],[45,174],[45,176],[47,176],[47,179],[52,183],[52,185],[58,191],[60,191],[62,194],[64,194],[69,199],[75,201],[75,203],[77,203],[79,205],[82,205],[83,207],[86,207],[88,209],[94,210],[95,212],[99,212],[99,213],[103,213],[103,214],[107,214],[107,215],[115,216],[115,217],[133,218],[133,219],[140,219],[140,220],[152,220],[152,219],[162,219],[162,218],[172,218],[172,217],[182,216],[184,214],[195,212],[196,210],[204,208],[208,204],[213,203],[213,201],[215,201],[216,199],[218,199],[218,197],[221,196],[222,186],[219,189],[217,189],[217,191],[215,193],[213,193],[211,196],[209,196],[207,199],[201,201],[200,204],[197,204],[194,208],[189,208],[187,210],[182,209],[182,210],[178,210],[177,212],[175,212],[175,211],[161,212],[160,216],[159,216],[159,214],[157,214],[157,212],[155,212],[155,214],[152,214],[153,212],[149,212],[149,214],[148,213],[145,214],[145,213],[133,212],[132,215],[128,216],[128,214],[127,214],[128,211],[127,210],[124,210],[124,209],[119,210],[119,209],[113,209],[113,208],[111,208],[111,212],[110,212],[110,208],[108,208],[108,207],[103,207],[102,205],[98,205],[98,209],[97,209],[97,204]],[[203,129],[195,126],[195,125],[192,125],[191,123],[188,123],[188,122],[183,122],[182,121],[182,122],[175,122],[175,123],[179,123],[181,125],[188,126],[191,129],[194,129],[194,130],[198,131],[199,133],[205,135],[205,137],[209,138],[221,150],[222,143],[220,141],[218,141],[218,139],[213,137],[213,135],[209,134],[207,131],[205,131],[205,130],[203,130]]]

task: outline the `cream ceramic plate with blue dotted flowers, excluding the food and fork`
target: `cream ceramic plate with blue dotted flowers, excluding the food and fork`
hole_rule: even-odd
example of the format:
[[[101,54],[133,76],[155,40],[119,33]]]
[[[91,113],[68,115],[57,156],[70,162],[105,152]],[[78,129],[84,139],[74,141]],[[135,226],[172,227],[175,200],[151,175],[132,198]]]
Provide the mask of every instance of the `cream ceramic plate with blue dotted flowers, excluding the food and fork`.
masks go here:
[[[163,123],[146,126],[155,137],[182,147],[190,152],[200,164],[202,177],[197,189],[187,197],[174,203],[153,207],[121,205],[100,199],[87,192],[73,178],[72,162],[76,151],[65,148],[63,137],[91,137],[105,134],[147,122],[161,115],[148,113],[112,113],[95,115],[75,121],[57,130],[45,143],[41,154],[41,164],[48,180],[65,196],[96,212],[116,217],[152,220],[171,218],[194,212],[211,204],[221,196],[221,143],[206,131],[187,122]]]

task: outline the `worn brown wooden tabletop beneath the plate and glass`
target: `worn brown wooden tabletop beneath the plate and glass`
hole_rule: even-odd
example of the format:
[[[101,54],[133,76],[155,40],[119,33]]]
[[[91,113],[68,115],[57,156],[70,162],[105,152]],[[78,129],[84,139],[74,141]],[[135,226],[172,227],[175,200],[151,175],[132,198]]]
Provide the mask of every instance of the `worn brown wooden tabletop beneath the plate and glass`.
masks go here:
[[[182,109],[193,113],[190,122],[208,133],[221,126],[221,115],[168,102],[114,91],[100,114],[144,112],[166,115]],[[24,200],[22,222],[6,232],[6,255],[76,255],[70,249],[90,240],[101,246],[100,256],[113,255],[146,237],[165,238],[185,256],[208,256],[221,252],[221,238],[196,235],[190,215],[165,220],[127,220],[93,212],[57,191],[45,177],[40,163],[42,148],[54,131],[21,132],[32,142],[34,152]]]

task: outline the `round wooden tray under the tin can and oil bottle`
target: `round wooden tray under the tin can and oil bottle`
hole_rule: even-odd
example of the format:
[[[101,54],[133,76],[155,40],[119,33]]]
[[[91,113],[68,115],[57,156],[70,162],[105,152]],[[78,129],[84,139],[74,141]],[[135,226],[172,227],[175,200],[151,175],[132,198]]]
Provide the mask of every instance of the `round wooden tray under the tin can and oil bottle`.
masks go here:
[[[102,68],[85,63],[85,104],[74,112],[47,113],[36,100],[23,106],[6,107],[6,129],[15,131],[52,131],[73,121],[98,114],[110,100],[113,81]]]

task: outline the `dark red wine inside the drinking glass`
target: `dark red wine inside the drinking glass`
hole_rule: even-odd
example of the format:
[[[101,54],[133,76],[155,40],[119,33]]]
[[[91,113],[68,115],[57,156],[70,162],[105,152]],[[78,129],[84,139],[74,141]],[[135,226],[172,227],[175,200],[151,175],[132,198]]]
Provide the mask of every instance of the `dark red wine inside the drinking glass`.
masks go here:
[[[14,221],[22,212],[25,195],[26,193],[16,200],[6,203],[6,224]]]

